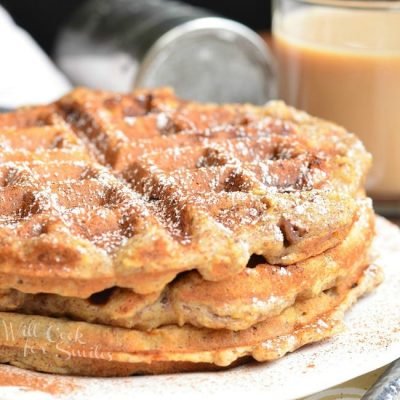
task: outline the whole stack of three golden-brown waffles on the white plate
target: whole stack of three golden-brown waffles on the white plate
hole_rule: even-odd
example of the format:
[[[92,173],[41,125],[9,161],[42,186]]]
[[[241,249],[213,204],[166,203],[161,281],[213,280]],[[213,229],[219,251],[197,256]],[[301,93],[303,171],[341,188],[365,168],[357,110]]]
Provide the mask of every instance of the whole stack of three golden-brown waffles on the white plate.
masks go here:
[[[369,165],[281,102],[78,88],[0,115],[0,362],[206,370],[333,335],[381,279]]]

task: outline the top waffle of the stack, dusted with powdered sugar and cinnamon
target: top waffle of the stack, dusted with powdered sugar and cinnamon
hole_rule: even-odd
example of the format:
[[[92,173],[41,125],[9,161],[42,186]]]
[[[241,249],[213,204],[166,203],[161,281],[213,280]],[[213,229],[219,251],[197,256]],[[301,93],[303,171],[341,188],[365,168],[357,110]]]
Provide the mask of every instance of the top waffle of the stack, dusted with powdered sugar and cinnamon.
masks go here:
[[[350,231],[369,164],[352,134],[280,102],[76,89],[0,115],[0,287],[152,293],[253,254],[295,263]]]

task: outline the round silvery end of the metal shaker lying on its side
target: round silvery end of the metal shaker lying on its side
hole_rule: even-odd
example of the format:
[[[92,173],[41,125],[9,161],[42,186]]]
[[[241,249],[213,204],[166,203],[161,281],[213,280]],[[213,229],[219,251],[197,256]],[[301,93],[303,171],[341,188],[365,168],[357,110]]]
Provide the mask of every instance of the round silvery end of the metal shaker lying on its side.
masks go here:
[[[266,43],[244,25],[219,17],[185,22],[146,53],[135,87],[172,86],[183,98],[262,104],[275,95]]]

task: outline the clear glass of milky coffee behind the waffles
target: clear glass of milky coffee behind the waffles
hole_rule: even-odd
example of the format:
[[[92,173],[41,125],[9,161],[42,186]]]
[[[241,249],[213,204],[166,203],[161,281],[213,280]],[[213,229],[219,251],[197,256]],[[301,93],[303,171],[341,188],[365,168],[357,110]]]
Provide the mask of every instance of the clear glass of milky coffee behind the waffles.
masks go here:
[[[400,1],[276,0],[279,97],[357,134],[367,189],[400,214]]]

